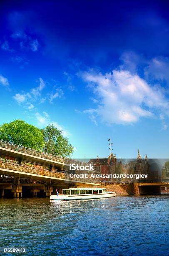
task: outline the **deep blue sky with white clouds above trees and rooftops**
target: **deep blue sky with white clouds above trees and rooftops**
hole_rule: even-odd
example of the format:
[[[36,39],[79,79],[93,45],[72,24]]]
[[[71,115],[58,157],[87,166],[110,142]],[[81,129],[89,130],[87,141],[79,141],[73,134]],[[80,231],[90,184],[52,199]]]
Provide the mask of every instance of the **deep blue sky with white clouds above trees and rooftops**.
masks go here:
[[[62,129],[74,158],[169,157],[167,1],[0,1],[0,125]]]

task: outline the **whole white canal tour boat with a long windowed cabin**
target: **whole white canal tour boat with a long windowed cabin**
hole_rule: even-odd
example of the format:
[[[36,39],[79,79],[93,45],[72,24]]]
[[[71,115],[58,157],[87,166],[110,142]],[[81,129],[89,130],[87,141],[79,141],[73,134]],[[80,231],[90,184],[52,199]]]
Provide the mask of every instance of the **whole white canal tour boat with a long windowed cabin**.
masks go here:
[[[62,189],[62,195],[51,195],[51,200],[79,200],[79,199],[98,199],[115,197],[116,192],[108,192],[105,188],[71,188]]]

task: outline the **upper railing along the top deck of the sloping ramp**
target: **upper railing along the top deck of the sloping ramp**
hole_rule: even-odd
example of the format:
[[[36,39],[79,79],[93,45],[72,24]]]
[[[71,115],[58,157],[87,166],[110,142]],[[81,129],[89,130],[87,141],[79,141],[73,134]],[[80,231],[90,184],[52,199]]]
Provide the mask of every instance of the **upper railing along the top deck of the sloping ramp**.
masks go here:
[[[63,163],[63,164],[73,163],[73,164],[80,164],[80,165],[83,164],[83,165],[85,165],[84,163],[82,163],[80,161],[74,161],[72,159],[61,157],[61,156],[55,156],[55,155],[48,154],[48,153],[45,153],[45,152],[42,152],[42,151],[38,151],[38,150],[35,150],[35,149],[32,149],[32,148],[26,148],[26,147],[23,147],[23,146],[19,146],[19,145],[16,145],[14,143],[10,143],[10,142],[7,142],[7,141],[0,140],[0,147],[10,149],[10,150],[13,150],[13,151],[17,151],[17,152],[20,152],[20,153],[28,154],[28,155],[31,155],[31,156],[37,156],[37,157],[40,157],[40,158],[43,158],[43,159],[49,159],[49,160],[60,162],[60,163]]]

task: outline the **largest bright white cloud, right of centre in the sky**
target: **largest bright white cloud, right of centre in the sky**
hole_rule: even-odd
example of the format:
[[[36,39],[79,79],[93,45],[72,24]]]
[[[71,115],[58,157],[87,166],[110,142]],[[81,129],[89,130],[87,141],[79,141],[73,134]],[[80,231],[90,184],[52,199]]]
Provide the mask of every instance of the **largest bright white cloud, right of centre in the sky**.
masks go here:
[[[81,76],[99,100],[92,115],[88,110],[91,119],[99,115],[107,124],[127,124],[137,122],[140,117],[152,117],[156,110],[169,109],[162,88],[150,86],[137,74],[126,70],[113,70],[107,74],[91,70]]]

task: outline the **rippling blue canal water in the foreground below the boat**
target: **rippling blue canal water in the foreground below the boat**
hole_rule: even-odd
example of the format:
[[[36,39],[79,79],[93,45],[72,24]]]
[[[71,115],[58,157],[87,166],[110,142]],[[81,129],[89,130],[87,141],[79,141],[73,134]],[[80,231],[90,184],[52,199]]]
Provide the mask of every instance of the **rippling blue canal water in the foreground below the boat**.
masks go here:
[[[37,256],[168,256],[169,195],[0,199],[2,246],[27,247],[26,255]]]

